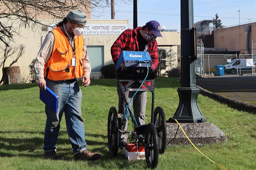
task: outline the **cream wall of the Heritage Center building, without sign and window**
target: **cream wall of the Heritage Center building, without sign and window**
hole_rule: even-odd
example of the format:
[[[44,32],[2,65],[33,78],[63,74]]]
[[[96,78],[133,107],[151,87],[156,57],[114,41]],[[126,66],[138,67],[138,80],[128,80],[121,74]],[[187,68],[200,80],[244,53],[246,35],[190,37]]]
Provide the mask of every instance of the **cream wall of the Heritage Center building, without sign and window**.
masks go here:
[[[56,24],[59,21],[53,21],[51,19],[44,19],[42,21],[46,25],[50,24]],[[127,25],[129,26],[129,21],[127,19],[124,20],[114,20],[114,19],[100,19],[100,20],[93,20],[88,19],[87,24],[118,24],[118,25]],[[23,56],[20,57],[17,63],[15,63],[13,66],[20,66],[20,72],[21,72],[21,81],[23,83],[29,82],[29,68],[28,65],[31,64],[32,60],[36,58],[36,55],[41,47],[41,44],[44,41],[45,35],[48,33],[48,31],[42,31],[42,26],[37,25],[33,28],[27,27],[19,27],[19,24],[17,23],[15,25],[15,28],[19,30],[19,35],[15,35],[14,41],[15,43],[11,43],[12,46],[18,46],[19,44],[23,44],[25,46],[25,53]],[[173,32],[166,32],[162,33],[163,38],[158,37],[157,42],[158,45],[162,46],[172,46],[174,45],[174,50],[177,51],[177,48],[175,48],[175,45],[180,45],[180,36],[178,33]],[[118,38],[119,35],[85,35],[87,46],[104,46],[104,65],[113,63],[110,48],[114,41]],[[3,44],[1,44],[3,46]],[[0,51],[0,58],[3,56],[3,51]],[[16,55],[13,55],[12,57],[9,57],[5,62],[5,67],[9,66],[9,64],[14,60]],[[91,57],[94,57],[91,55]],[[90,58],[90,54],[89,54]],[[2,62],[2,60],[0,60]],[[0,68],[1,67],[0,63]],[[0,69],[0,75],[2,75],[2,69]],[[91,73],[91,78],[100,78],[99,72]]]

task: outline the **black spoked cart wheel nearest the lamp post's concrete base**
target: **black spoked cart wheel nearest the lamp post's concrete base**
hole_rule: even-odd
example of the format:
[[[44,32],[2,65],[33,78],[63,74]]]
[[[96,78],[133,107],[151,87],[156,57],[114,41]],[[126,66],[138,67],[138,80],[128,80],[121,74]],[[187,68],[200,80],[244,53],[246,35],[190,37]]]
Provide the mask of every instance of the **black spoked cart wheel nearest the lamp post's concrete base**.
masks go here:
[[[156,107],[154,111],[154,125],[157,130],[159,154],[163,154],[166,147],[167,130],[164,109],[160,106]]]

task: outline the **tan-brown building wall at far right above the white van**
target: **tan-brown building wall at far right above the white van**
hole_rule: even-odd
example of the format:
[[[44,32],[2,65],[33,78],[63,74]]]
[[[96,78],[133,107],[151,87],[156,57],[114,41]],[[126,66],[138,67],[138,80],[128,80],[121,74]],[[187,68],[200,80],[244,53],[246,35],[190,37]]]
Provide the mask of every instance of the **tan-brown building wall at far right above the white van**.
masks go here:
[[[249,24],[246,24],[249,25]],[[240,25],[240,54],[245,52],[245,25]],[[250,31],[250,53],[252,50],[252,40],[256,43],[256,23],[251,23]],[[233,26],[220,30],[214,30],[215,48],[227,48],[227,51],[239,51],[239,26]],[[256,45],[253,45],[256,52]]]

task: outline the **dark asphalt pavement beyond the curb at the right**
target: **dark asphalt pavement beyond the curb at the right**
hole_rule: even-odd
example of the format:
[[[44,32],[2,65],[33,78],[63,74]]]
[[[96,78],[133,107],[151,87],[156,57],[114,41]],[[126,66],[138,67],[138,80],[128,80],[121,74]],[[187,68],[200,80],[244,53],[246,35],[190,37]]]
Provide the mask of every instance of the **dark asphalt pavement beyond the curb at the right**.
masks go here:
[[[198,78],[196,85],[222,96],[256,105],[256,76]]]

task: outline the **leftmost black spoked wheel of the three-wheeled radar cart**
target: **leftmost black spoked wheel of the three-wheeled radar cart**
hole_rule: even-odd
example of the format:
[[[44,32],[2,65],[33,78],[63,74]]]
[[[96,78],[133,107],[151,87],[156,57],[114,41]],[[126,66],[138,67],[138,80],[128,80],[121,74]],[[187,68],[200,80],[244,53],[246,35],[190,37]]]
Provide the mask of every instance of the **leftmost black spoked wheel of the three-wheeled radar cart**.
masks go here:
[[[116,156],[119,144],[119,126],[116,107],[111,107],[108,112],[108,149],[112,156]]]

